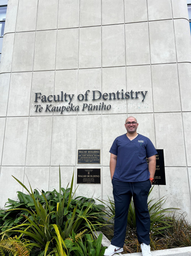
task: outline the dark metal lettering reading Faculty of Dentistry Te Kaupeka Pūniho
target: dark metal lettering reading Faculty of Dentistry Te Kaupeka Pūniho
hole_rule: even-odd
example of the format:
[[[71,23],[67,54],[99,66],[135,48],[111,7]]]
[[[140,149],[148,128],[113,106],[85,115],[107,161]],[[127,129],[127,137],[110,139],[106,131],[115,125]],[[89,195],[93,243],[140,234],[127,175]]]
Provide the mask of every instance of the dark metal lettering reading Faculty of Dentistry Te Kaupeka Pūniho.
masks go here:
[[[91,97],[92,103],[87,104],[87,103],[82,103],[83,105],[74,105],[74,94],[68,94],[68,92],[63,92],[61,91],[59,94],[54,94],[54,95],[43,95],[42,92],[35,92],[35,101],[36,104],[34,105],[34,112],[56,112],[57,114],[63,114],[63,112],[68,112],[68,113],[77,113],[77,111],[108,111],[111,109],[111,105],[107,104],[110,102],[110,100],[129,100],[129,99],[140,99],[141,102],[138,103],[144,103],[144,98],[146,97],[148,91],[133,91],[129,90],[128,92],[125,92],[123,89],[121,91],[117,92],[100,92],[100,91],[90,91],[86,90],[85,93],[80,93],[76,95],[77,99],[79,102],[83,101],[88,101]],[[94,105],[94,101],[103,101],[99,102],[97,105]],[[139,100],[139,101],[140,101]],[[45,102],[45,104],[44,104]],[[53,106],[54,102],[59,102],[61,105],[60,106]],[[68,105],[65,105],[68,104]],[[141,106],[141,105],[140,105]],[[140,107],[139,106],[139,107]],[[143,105],[144,106],[144,105]]]

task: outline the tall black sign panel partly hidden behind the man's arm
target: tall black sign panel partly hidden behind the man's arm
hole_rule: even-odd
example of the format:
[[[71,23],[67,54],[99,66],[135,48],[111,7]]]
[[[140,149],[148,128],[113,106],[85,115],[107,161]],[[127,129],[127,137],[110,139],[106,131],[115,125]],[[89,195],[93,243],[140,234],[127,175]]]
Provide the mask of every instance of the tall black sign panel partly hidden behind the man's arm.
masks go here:
[[[164,153],[163,149],[157,149],[158,154],[156,155],[156,171],[154,176],[153,185],[166,185],[165,179],[165,164],[164,164]],[[148,162],[148,160],[147,160]]]

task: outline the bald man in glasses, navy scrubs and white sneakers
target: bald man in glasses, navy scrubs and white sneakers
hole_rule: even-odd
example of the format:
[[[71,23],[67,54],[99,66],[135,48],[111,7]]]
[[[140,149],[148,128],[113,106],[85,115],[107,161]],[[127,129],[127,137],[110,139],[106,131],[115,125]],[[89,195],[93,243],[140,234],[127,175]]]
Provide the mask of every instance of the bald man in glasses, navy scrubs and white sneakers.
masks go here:
[[[126,134],[117,137],[110,149],[110,173],[115,201],[114,236],[105,256],[123,251],[129,204],[133,197],[138,241],[143,256],[151,256],[150,215],[147,198],[156,169],[157,151],[151,140],[136,132],[136,118],[125,121]],[[146,157],[149,161],[147,164]]]

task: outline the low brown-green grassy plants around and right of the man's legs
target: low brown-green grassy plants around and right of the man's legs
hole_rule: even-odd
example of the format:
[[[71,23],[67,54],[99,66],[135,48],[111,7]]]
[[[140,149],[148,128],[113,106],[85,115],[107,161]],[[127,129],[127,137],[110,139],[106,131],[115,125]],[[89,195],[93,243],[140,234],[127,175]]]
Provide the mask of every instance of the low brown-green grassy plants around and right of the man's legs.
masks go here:
[[[160,215],[161,209],[157,205],[159,201],[151,204],[151,207],[153,206],[151,210],[154,209],[154,213]],[[156,209],[159,209],[159,211]],[[191,246],[191,224],[185,220],[185,216],[175,211],[164,210],[166,213],[162,212],[161,216],[159,216],[160,218],[158,218],[158,215],[155,218],[155,214],[152,217],[153,221],[151,221],[152,226],[150,230],[151,250]],[[113,238],[113,228],[106,227],[103,233],[109,240]],[[138,253],[140,251],[140,245],[136,236],[136,227],[133,225],[127,225],[123,248],[125,253]]]

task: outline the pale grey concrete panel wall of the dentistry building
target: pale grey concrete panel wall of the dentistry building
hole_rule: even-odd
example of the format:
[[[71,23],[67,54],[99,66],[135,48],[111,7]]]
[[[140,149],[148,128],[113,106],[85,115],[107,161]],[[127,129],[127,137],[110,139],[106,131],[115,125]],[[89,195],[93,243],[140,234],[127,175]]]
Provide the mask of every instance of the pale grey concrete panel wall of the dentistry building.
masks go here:
[[[164,149],[167,185],[156,198],[191,217],[191,37],[186,0],[9,0],[0,64],[0,206],[22,190],[63,186],[77,167],[100,167],[101,184],[76,195],[112,196],[109,149],[127,115]],[[34,93],[148,91],[112,100],[110,110],[35,112]],[[91,92],[89,93],[91,94]],[[89,95],[88,104],[98,104]],[[45,107],[46,103],[41,102]],[[62,104],[63,105],[63,104]],[[68,105],[65,102],[65,105]],[[54,104],[60,106],[60,104]],[[101,164],[77,164],[78,149],[100,149]],[[73,167],[74,165],[74,167]]]

